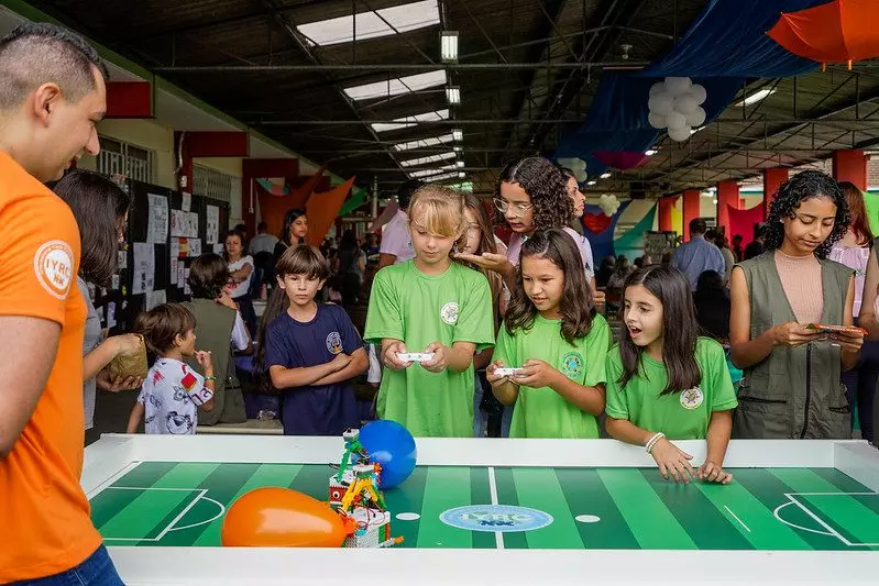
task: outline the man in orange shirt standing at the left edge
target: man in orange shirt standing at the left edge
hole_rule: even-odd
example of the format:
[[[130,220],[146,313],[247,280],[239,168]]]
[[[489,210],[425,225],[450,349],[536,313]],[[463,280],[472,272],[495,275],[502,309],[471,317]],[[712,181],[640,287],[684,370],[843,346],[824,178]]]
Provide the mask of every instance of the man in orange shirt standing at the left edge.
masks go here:
[[[98,153],[105,77],[97,52],[58,26],[0,40],[0,583],[122,584],[79,485],[79,230],[41,183]]]

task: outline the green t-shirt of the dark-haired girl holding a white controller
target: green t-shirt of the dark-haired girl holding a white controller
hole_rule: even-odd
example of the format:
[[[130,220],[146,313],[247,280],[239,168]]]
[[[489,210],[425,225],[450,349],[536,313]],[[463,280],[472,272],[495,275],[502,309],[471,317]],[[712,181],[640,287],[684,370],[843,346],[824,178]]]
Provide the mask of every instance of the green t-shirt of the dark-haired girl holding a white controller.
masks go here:
[[[561,335],[561,320],[538,314],[530,330],[518,329],[513,335],[502,325],[493,360],[513,368],[531,358],[541,360],[571,380],[593,387],[607,380],[605,364],[609,346],[611,328],[602,316],[593,318],[589,334],[570,344]],[[598,421],[549,387],[520,386],[509,436],[594,439],[598,438]]]

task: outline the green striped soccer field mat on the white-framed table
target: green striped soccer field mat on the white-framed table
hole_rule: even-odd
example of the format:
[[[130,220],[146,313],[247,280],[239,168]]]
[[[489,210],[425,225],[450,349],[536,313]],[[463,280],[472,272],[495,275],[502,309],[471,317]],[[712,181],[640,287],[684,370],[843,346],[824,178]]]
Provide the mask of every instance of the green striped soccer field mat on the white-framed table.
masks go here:
[[[733,484],[656,468],[419,466],[385,497],[400,548],[879,549],[879,494],[835,468],[737,468]],[[220,545],[260,487],[327,500],[327,465],[142,462],[91,499],[107,545]]]

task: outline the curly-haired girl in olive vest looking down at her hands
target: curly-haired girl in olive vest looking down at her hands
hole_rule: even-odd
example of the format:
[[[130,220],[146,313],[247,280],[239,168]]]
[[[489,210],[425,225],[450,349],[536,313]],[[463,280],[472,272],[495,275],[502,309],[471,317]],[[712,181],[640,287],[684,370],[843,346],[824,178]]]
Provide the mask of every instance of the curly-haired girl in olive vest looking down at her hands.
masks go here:
[[[766,252],[733,269],[730,354],[745,371],[736,438],[851,436],[839,376],[857,363],[864,335],[850,329],[827,340],[813,327],[854,325],[853,270],[827,259],[848,220],[832,177],[800,173],[772,200]]]

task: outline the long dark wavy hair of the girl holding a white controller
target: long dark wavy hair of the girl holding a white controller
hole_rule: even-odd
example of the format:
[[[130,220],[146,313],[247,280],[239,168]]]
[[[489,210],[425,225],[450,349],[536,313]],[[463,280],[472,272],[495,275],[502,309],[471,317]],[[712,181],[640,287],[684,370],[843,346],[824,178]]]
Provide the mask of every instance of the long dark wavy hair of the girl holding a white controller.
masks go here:
[[[592,288],[586,283],[576,242],[563,230],[539,230],[521,245],[521,259],[529,256],[548,258],[564,274],[564,286],[559,302],[561,334],[573,344],[578,338],[589,334],[592,319],[595,317]],[[520,328],[530,330],[538,313],[537,307],[525,292],[521,277],[524,264],[519,262],[516,269],[516,287],[504,317],[507,333],[510,335]]]

